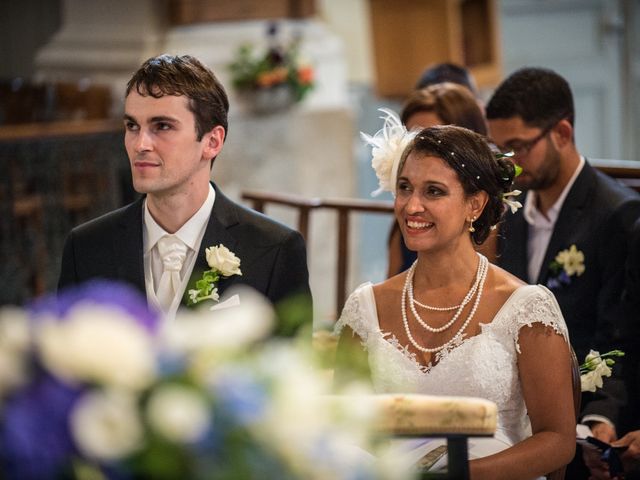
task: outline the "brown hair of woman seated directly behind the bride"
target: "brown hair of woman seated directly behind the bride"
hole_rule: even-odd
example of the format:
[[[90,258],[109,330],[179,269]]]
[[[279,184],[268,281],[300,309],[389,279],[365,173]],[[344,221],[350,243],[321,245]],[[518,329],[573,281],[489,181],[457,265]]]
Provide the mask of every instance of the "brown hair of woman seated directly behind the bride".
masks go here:
[[[457,83],[436,83],[414,91],[404,103],[400,120],[406,125],[412,115],[420,112],[433,112],[447,125],[487,134],[487,124],[476,97]]]

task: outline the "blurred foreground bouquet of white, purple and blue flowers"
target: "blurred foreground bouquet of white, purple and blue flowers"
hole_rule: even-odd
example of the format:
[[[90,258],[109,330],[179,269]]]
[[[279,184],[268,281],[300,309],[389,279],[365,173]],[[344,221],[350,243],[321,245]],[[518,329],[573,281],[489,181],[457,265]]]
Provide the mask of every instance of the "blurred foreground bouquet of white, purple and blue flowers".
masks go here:
[[[0,310],[0,476],[393,478],[353,447],[377,453],[375,412],[323,401],[309,340],[250,297],[166,325],[107,282]]]

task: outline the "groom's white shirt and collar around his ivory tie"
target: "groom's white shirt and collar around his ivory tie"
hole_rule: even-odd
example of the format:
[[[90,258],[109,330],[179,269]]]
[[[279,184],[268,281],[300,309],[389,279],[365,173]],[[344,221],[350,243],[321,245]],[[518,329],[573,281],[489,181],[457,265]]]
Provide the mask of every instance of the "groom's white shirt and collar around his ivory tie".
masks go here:
[[[182,294],[187,286],[191,272],[193,271],[193,267],[196,263],[196,255],[198,254],[198,250],[200,250],[202,237],[204,237],[204,232],[206,231],[207,224],[209,223],[209,217],[211,216],[215,198],[216,192],[211,184],[209,184],[209,194],[202,206],[182,227],[180,227],[176,233],[173,234],[187,246],[187,256],[182,264],[182,269],[180,270],[180,278],[182,280],[181,288],[173,299],[169,311],[165,312],[167,319],[174,318],[178,307],[180,306]],[[157,286],[160,282],[160,277],[162,276],[163,271],[162,257],[158,251],[157,243],[160,238],[165,235],[170,235],[170,233],[158,225],[151,216],[146,199],[144,201],[143,227],[144,282],[147,292],[147,301],[150,305],[153,305],[159,311],[162,311],[160,303],[156,297]]]

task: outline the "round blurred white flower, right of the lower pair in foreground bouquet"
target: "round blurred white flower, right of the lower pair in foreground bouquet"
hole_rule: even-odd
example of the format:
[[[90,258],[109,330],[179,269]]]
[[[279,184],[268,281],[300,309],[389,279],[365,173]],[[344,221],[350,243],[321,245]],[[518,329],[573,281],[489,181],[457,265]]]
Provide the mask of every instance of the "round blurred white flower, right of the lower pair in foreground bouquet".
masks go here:
[[[164,385],[149,399],[151,427],[177,443],[196,442],[207,432],[211,416],[202,395],[182,385]]]

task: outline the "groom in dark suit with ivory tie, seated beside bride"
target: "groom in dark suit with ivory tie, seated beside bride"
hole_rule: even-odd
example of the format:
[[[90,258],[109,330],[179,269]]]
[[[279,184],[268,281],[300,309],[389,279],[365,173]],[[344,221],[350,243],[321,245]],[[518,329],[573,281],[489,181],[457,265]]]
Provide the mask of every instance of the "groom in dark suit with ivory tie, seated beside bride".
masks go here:
[[[205,249],[223,245],[240,260],[241,275],[222,278],[220,295],[241,283],[276,308],[300,299],[295,319],[281,318],[279,334],[311,321],[302,236],[235,204],[210,182],[228,110],[222,84],[194,57],[161,55],[139,68],[127,84],[124,126],[133,186],[144,195],[72,230],[59,289],[92,278],[119,280],[171,317],[187,284],[209,269]]]

